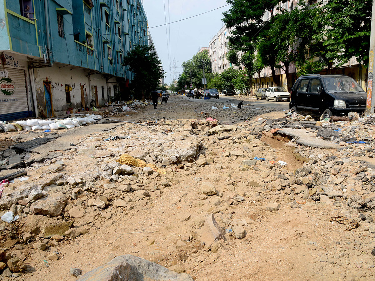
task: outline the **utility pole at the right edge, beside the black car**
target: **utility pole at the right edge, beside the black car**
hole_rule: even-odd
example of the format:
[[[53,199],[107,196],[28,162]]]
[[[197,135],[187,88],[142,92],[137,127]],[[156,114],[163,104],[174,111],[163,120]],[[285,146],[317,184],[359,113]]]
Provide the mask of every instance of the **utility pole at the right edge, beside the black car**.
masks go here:
[[[374,114],[374,106],[375,106],[375,95],[372,94],[372,84],[374,81],[374,64],[375,64],[374,51],[375,51],[375,0],[372,1],[369,71],[367,75],[366,116]]]

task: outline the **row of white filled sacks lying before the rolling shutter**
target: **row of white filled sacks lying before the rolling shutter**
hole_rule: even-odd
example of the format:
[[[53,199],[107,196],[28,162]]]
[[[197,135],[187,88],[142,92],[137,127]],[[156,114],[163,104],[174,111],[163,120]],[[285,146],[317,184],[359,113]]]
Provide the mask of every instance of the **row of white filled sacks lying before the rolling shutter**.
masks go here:
[[[85,126],[91,123],[95,123],[101,120],[101,115],[86,114],[84,117],[72,117],[64,120],[39,120],[39,119],[28,119],[16,121],[15,123],[6,123],[0,121],[0,132],[15,132],[15,131],[35,131],[44,130],[50,132],[51,130],[57,129],[72,129],[76,127]]]

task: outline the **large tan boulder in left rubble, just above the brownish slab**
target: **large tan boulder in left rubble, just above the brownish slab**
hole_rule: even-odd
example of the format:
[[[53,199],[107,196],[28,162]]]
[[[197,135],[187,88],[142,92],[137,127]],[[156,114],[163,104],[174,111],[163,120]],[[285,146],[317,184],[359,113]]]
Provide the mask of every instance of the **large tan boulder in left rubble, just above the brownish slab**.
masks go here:
[[[57,217],[58,215],[61,215],[67,200],[68,198],[65,194],[56,192],[38,202],[31,204],[30,209],[34,212],[34,214]]]

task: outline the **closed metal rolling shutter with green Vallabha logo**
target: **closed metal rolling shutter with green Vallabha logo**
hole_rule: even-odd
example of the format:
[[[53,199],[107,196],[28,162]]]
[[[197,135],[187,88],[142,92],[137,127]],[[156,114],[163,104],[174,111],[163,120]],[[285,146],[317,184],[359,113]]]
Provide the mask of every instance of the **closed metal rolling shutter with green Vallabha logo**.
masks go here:
[[[12,120],[28,116],[28,102],[26,93],[25,71],[20,69],[5,68],[8,78],[12,79],[11,85],[15,87],[12,95],[0,92],[0,120]],[[14,101],[17,99],[17,101]]]

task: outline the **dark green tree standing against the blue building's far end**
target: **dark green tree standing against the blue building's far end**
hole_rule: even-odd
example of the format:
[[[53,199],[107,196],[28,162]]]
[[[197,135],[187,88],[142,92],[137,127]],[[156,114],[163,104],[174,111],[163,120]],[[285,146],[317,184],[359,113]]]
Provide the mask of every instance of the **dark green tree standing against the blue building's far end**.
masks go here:
[[[140,93],[136,98],[141,97],[145,100],[145,93],[155,90],[159,86],[160,79],[165,78],[162,62],[156,55],[154,45],[134,46],[131,51],[127,52],[123,64],[134,73],[132,88],[135,89],[135,93]]]

